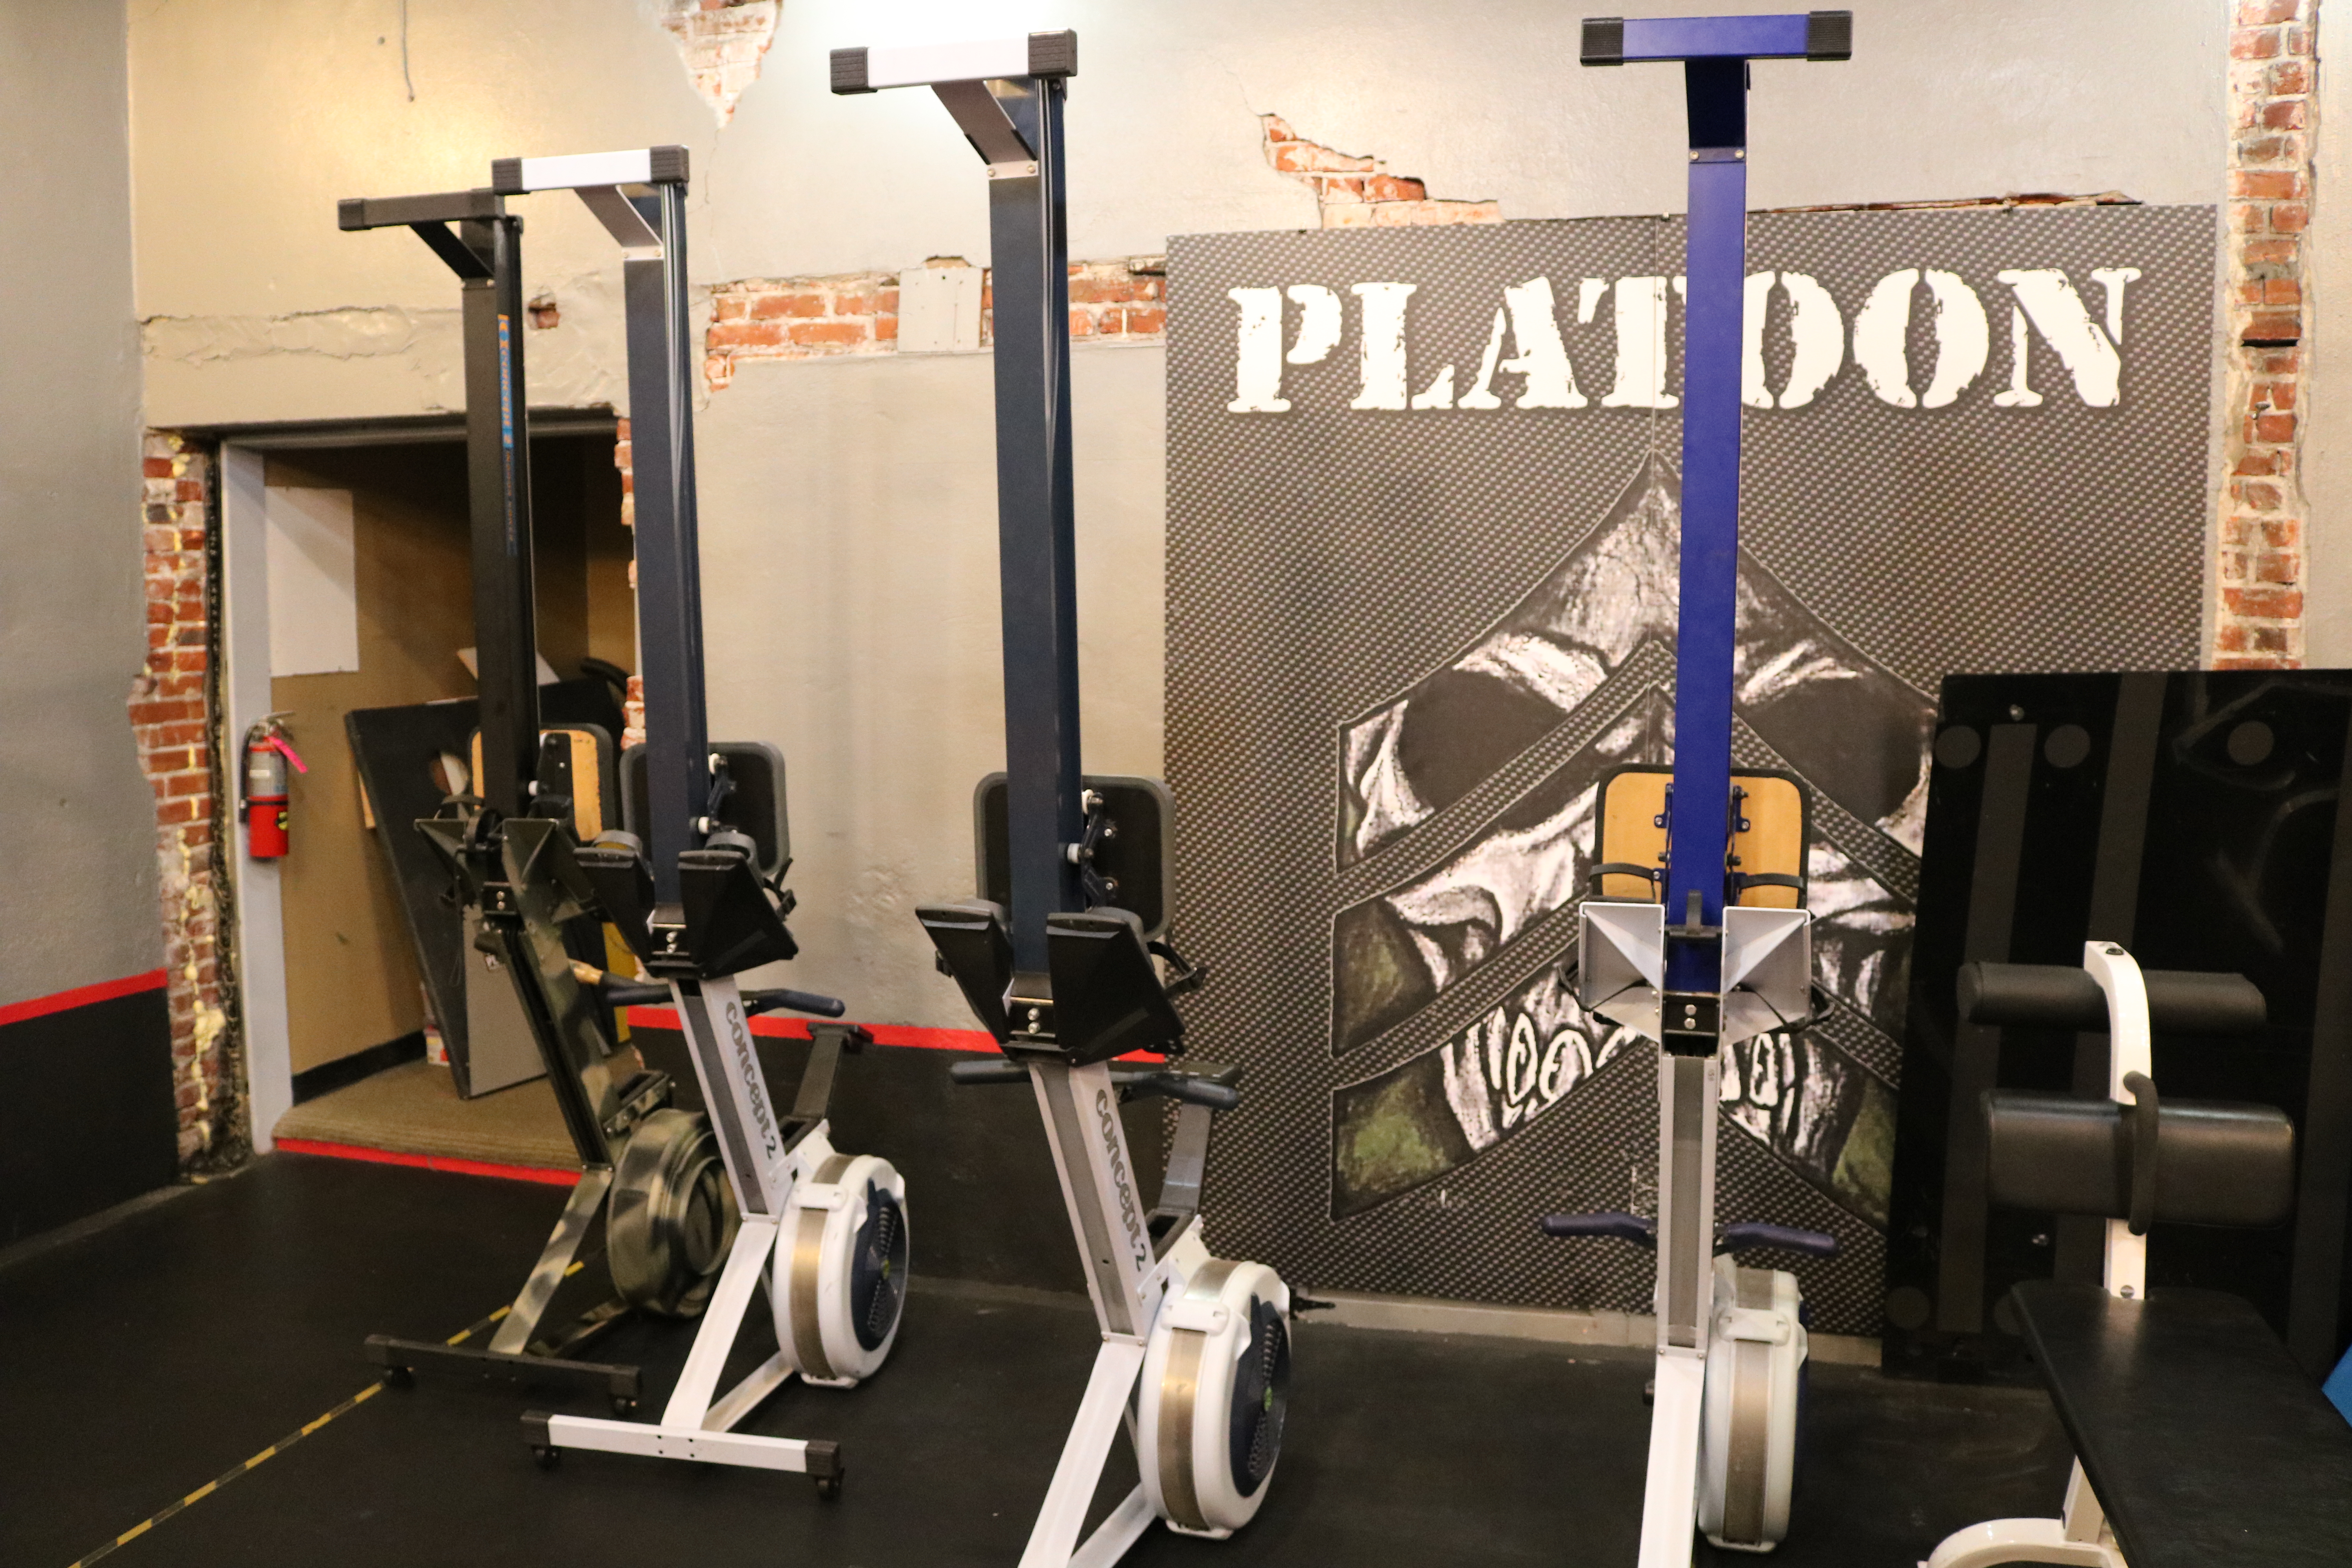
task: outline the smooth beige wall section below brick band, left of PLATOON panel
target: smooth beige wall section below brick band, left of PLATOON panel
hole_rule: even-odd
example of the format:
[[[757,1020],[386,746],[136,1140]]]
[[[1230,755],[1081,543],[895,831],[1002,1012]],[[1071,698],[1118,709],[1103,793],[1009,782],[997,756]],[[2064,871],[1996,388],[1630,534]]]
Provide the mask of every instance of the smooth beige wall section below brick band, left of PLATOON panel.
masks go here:
[[[1160,771],[1160,348],[1077,348],[1087,766]],[[1004,766],[990,355],[739,376],[701,454],[710,733],[783,748],[790,983],[971,1027],[915,905],[971,893],[971,788]],[[849,461],[854,454],[854,461]]]

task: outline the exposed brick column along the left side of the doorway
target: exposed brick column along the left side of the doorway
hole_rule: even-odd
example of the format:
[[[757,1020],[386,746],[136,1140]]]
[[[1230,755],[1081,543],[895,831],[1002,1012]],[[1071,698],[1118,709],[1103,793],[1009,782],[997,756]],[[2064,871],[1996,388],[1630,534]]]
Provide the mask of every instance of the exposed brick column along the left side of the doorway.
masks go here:
[[[207,691],[209,456],[174,435],[146,437],[148,654],[129,696],[139,766],[155,790],[155,870],[183,1168],[235,1164],[247,1152],[242,1063],[221,987],[216,736]]]

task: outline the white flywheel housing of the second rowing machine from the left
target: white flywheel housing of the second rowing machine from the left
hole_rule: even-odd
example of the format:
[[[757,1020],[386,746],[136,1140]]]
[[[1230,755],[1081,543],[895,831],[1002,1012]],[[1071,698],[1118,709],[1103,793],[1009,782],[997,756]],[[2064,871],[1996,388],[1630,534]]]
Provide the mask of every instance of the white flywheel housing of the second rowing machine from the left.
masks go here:
[[[807,1382],[870,1378],[906,1307],[906,1178],[875,1154],[826,1154],[795,1182],[776,1239],[776,1342]]]

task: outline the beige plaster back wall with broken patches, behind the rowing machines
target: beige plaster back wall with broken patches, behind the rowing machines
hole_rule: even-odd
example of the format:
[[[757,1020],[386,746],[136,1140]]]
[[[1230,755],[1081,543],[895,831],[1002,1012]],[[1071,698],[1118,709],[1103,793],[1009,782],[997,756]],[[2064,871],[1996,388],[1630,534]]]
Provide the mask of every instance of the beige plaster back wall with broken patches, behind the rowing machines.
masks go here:
[[[1592,7],[1599,9],[1599,7]],[[1780,9],[1668,0],[1658,12]],[[2124,190],[2223,195],[2227,7],[1856,0],[1860,59],[1764,66],[1757,205]],[[699,284],[983,263],[985,190],[913,92],[833,99],[837,45],[1080,33],[1073,256],[1305,228],[1261,113],[1510,219],[1679,209],[1677,75],[1576,66],[1578,7],[1494,0],[790,0],[717,129],[652,0],[176,0],[132,26],[139,313],[153,423],[412,414],[459,400],[454,289],[334,200],[482,183],[499,155],[691,148]],[[576,200],[529,197],[534,402],[626,407],[619,266]],[[1162,355],[1075,367],[1089,766],[1157,771]],[[713,726],[793,764],[807,957],[854,1016],[964,1025],[908,905],[969,884],[1000,757],[988,360],[750,362],[703,400]]]

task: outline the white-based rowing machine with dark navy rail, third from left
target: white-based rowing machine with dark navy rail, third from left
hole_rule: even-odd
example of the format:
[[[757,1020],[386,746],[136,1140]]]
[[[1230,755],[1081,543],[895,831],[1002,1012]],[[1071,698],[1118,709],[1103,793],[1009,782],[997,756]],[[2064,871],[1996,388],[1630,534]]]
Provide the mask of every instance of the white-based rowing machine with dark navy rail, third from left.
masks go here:
[[[1200,973],[1164,943],[1164,867],[1145,856],[1110,867],[1129,846],[1169,842],[1167,788],[1080,776],[1061,143],[1075,71],[1073,33],[833,52],[833,92],[929,87],[988,165],[1007,771],[976,795],[983,896],[920,919],[1007,1056],[957,1077],[1028,1081],[1037,1095],[1103,1333],[1023,1568],[1108,1568],[1155,1519],[1211,1537],[1249,1523],[1282,1448],[1291,1354],[1289,1286],[1265,1265],[1211,1258],[1202,1239],[1209,1126],[1237,1105],[1235,1074],[1112,1065],[1183,1048],[1169,997]],[[1117,1110],[1131,1095],[1178,1103],[1150,1213]],[[1122,1427],[1141,1481],[1080,1544]]]

